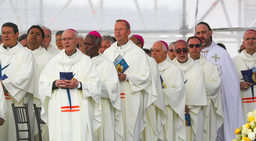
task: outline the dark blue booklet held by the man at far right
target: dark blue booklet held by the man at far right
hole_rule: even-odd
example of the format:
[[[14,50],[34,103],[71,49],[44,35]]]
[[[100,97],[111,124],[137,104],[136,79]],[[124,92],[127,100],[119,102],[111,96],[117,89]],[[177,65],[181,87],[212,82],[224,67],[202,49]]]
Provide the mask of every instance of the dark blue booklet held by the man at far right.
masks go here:
[[[253,85],[256,85],[256,68],[252,67],[251,69],[241,71],[244,81],[249,82]]]

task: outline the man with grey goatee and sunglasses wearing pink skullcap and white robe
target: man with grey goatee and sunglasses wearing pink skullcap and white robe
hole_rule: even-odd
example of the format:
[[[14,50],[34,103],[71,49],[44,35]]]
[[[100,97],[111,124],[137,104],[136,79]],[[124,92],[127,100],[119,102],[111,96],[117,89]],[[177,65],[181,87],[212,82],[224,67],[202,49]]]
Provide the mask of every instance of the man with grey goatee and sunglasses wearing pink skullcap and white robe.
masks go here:
[[[207,106],[205,77],[200,64],[188,56],[188,44],[184,40],[174,43],[176,58],[173,62],[180,67],[186,88],[185,114],[190,115],[191,128],[186,127],[187,141],[203,141],[203,109]]]

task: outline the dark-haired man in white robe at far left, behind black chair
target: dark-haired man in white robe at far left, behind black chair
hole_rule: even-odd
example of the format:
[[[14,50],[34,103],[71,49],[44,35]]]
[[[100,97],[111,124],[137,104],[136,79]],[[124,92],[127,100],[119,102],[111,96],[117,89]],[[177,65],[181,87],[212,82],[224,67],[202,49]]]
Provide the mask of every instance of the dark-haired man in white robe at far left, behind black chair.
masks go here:
[[[28,104],[29,120],[34,121],[33,103],[39,101],[38,74],[33,54],[17,42],[19,30],[14,23],[2,26],[3,44],[0,46],[0,78],[8,105],[6,121],[0,126],[0,141],[15,141],[16,128],[11,104],[24,106]],[[26,129],[26,125],[19,126]],[[30,123],[31,140],[34,140],[34,122]],[[20,133],[26,138],[27,133]]]

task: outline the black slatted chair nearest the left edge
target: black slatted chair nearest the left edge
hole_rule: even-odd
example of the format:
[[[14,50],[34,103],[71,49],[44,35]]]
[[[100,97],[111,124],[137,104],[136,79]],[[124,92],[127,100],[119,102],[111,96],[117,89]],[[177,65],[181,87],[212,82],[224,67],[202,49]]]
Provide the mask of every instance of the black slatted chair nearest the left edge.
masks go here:
[[[24,106],[25,107],[15,107],[14,103],[12,103],[12,111],[13,111],[14,120],[15,120],[17,141],[20,141],[20,140],[31,141],[30,124],[29,124],[29,118],[28,118],[28,106],[26,103],[24,104]],[[19,125],[21,124],[27,124],[28,129],[19,130]],[[27,138],[20,138],[19,136],[20,132],[28,132]]]

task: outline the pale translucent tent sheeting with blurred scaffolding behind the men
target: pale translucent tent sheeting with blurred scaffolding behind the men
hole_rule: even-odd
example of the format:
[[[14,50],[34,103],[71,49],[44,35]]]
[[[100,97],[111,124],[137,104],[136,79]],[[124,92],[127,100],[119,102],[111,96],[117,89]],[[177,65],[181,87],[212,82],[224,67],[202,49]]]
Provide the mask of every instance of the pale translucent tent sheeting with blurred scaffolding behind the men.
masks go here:
[[[115,20],[124,19],[147,49],[157,40],[186,40],[205,21],[231,57],[238,54],[244,32],[256,30],[256,0],[0,0],[0,9],[1,25],[16,23],[20,34],[43,25],[51,29],[52,42],[67,28],[84,36],[94,30],[114,36]]]

